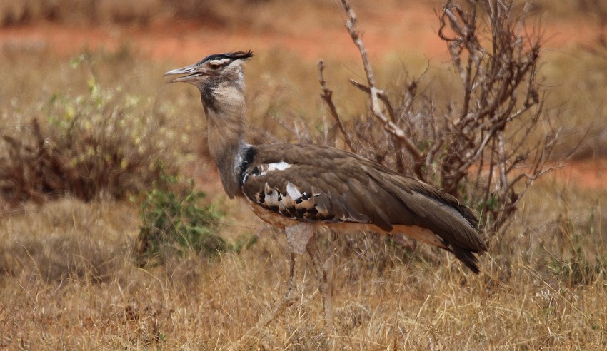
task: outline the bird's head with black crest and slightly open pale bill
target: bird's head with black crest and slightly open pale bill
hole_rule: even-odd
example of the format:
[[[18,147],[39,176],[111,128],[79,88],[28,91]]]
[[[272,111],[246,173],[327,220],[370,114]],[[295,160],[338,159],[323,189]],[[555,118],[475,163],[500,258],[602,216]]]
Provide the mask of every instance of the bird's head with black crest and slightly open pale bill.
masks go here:
[[[242,63],[251,57],[253,53],[250,50],[212,54],[193,65],[168,71],[164,76],[181,75],[166,83],[190,83],[202,91],[210,81],[225,82],[242,79]]]

